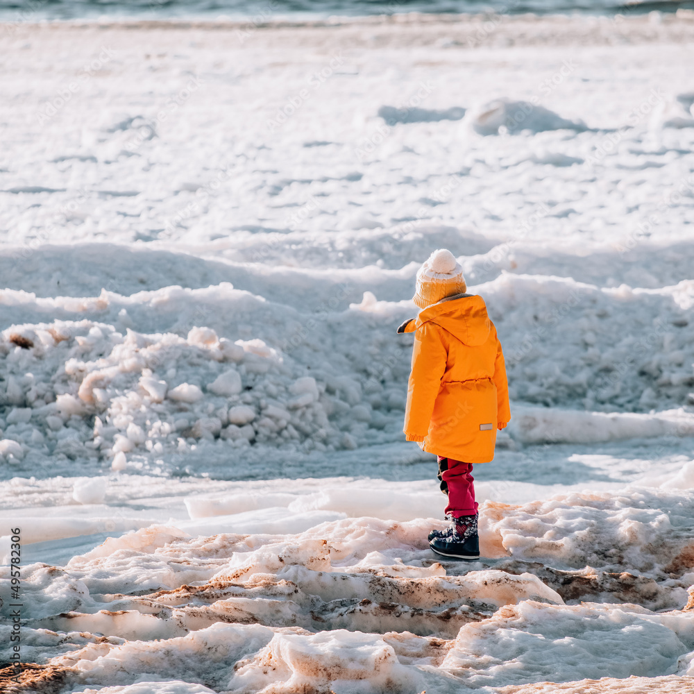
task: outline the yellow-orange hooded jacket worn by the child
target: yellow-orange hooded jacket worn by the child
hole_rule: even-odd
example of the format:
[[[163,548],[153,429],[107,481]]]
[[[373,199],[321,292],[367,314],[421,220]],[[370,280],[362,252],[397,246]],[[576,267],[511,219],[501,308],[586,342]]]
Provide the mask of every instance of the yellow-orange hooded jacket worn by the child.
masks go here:
[[[511,412],[504,355],[482,297],[448,296],[398,332],[414,332],[407,441],[423,441],[423,450],[443,457],[489,462],[497,426]]]

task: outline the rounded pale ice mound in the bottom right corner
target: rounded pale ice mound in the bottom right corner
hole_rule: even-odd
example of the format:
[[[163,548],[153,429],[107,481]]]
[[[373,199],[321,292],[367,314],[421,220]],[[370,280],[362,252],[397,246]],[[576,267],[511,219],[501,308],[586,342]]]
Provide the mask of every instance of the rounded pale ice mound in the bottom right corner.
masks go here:
[[[528,666],[539,682],[599,679],[607,672],[613,677],[657,677],[677,669],[679,657],[694,645],[693,636],[686,615],[659,616],[590,603],[556,607],[523,602],[502,608],[491,620],[463,627],[441,667],[459,672],[473,686],[499,686],[516,678],[513,684],[525,684]],[[471,669],[475,675],[466,676]]]

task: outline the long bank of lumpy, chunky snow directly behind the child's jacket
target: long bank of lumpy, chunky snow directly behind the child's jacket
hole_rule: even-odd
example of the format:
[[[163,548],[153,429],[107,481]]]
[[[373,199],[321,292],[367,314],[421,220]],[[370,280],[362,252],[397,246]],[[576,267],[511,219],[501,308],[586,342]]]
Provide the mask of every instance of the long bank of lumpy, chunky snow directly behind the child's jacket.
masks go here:
[[[412,286],[418,267],[407,269]],[[321,280],[309,284],[317,293]],[[694,432],[691,280],[639,289],[506,271],[472,291],[504,347],[515,412],[504,445]],[[239,474],[242,452],[262,462],[280,449],[298,464],[403,441],[411,339],[395,330],[414,307],[371,293],[340,310],[334,298],[316,316],[230,285],[128,298],[5,291],[9,315],[69,319],[1,334],[3,474],[75,460],[96,468],[119,453],[129,467]],[[171,332],[137,330],[154,321]]]

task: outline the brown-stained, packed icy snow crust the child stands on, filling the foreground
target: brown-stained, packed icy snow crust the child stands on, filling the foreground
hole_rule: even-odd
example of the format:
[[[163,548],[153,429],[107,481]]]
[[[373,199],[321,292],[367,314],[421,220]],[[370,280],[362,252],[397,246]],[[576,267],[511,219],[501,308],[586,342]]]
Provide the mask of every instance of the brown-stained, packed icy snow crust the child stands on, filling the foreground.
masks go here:
[[[645,488],[486,502],[485,559],[467,572],[432,557],[432,519],[212,535],[199,521],[153,524],[64,566],[26,566],[24,649],[62,673],[61,691],[143,679],[496,691],[668,675],[688,691],[693,518],[693,492]]]

